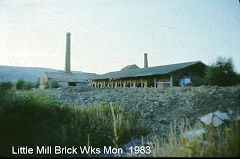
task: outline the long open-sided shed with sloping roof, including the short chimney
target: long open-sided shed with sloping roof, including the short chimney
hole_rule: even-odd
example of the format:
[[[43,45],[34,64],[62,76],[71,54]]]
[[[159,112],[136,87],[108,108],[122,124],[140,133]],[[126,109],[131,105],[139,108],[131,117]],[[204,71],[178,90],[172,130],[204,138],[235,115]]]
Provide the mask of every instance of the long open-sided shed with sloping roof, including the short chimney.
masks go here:
[[[144,55],[144,68],[123,69],[97,75],[93,87],[155,87],[197,85],[204,76],[206,65],[201,61],[148,67]]]

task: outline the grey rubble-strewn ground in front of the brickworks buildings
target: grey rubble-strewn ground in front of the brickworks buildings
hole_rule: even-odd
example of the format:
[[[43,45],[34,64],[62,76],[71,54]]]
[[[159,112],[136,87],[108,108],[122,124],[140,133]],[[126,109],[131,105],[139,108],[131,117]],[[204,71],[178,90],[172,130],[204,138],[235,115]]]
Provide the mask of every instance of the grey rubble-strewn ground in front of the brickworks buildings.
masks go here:
[[[136,109],[141,119],[150,129],[164,134],[172,121],[180,123],[188,119],[190,123],[205,114],[231,112],[236,115],[240,108],[237,87],[172,87],[172,88],[92,88],[64,87],[48,90],[50,99],[75,106],[114,105],[127,110]]]

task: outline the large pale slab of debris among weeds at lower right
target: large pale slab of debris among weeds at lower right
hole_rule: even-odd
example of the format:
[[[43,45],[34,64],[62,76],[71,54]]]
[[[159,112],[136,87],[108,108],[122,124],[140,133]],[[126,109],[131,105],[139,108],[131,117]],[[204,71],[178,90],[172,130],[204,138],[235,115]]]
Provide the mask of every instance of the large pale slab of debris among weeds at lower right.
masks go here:
[[[224,120],[229,120],[230,118],[228,117],[227,113],[216,111],[200,117],[199,119],[205,125],[213,124],[214,127],[218,127],[219,125],[223,124]]]

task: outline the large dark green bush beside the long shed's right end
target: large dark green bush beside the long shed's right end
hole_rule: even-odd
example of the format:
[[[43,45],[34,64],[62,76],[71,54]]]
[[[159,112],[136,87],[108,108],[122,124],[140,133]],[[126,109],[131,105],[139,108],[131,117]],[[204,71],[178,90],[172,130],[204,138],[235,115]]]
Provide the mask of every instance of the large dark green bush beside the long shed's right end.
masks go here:
[[[232,86],[237,84],[238,77],[233,70],[231,58],[218,57],[216,62],[206,68],[204,84],[218,86]]]

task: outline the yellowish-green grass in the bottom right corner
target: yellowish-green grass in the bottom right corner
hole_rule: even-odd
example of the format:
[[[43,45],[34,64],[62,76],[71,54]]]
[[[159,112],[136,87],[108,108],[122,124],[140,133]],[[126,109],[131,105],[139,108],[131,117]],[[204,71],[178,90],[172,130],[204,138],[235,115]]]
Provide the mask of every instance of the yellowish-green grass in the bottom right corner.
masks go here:
[[[240,156],[240,122],[232,121],[222,127],[206,127],[206,133],[189,141],[184,132],[203,128],[200,123],[191,128],[182,123],[177,129],[171,126],[167,139],[155,137],[153,157],[239,157]]]

